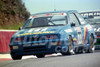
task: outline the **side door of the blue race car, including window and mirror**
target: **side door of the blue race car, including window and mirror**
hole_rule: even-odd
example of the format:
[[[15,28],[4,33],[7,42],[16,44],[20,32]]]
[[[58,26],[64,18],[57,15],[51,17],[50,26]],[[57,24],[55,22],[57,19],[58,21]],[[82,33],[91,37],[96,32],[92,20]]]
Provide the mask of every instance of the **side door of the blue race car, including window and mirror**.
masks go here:
[[[70,17],[71,27],[74,30],[74,38],[77,39],[77,41],[76,41],[77,45],[82,45],[84,33],[82,32],[80,22],[74,13],[70,13],[69,17]]]

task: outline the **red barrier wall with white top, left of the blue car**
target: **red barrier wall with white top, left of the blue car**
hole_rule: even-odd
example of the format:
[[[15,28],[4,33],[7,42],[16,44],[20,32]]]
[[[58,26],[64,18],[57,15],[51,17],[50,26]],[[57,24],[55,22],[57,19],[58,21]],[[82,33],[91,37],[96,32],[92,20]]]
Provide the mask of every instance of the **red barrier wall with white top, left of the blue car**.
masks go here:
[[[0,30],[0,53],[9,52],[9,43],[17,30]]]

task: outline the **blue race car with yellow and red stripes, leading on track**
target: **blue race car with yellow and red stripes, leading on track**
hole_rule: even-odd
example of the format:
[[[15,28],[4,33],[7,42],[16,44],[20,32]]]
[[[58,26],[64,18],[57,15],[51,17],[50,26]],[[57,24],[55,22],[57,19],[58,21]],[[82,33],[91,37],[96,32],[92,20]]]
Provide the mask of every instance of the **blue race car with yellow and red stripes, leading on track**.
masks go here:
[[[13,60],[24,55],[94,52],[96,35],[76,10],[32,14],[10,40]]]

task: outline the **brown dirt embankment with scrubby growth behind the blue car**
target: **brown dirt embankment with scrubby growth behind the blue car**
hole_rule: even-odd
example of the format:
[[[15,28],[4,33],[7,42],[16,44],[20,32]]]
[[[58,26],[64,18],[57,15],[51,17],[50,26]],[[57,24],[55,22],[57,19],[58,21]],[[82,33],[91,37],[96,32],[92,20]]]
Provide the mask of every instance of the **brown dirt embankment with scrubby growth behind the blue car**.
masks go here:
[[[21,0],[0,0],[0,27],[21,24],[29,17]]]

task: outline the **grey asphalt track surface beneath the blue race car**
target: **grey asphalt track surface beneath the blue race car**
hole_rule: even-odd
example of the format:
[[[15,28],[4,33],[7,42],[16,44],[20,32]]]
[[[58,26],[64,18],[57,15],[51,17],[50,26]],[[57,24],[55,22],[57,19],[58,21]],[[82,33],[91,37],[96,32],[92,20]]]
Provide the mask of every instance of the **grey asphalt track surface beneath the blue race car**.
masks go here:
[[[100,50],[69,56],[0,61],[0,67],[100,67]]]

